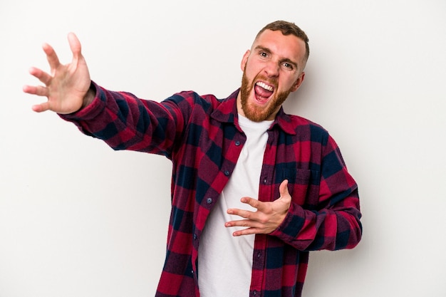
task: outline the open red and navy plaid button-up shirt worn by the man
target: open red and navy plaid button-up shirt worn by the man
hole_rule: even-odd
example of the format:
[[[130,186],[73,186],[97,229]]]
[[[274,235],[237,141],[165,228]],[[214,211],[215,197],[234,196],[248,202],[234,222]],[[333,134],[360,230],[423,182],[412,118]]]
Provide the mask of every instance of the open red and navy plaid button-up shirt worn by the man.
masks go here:
[[[200,236],[246,141],[238,90],[225,100],[182,92],[157,103],[93,87],[93,103],[62,118],[114,150],[172,161],[167,254],[156,296],[199,296]],[[288,179],[292,202],[281,226],[256,234],[249,296],[301,296],[308,251],[351,249],[360,241],[358,189],[336,142],[319,125],[281,109],[267,132],[259,200],[277,199]]]

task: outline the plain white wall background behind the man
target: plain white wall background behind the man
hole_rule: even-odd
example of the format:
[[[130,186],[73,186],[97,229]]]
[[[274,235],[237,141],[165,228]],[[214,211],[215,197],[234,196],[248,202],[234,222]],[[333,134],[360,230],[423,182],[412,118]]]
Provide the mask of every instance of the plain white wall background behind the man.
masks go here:
[[[360,186],[363,240],[317,251],[304,296],[446,296],[446,1],[61,1],[0,4],[0,297],[153,296],[165,256],[170,162],[114,152],[53,113],[28,68],[41,43],[111,90],[225,98],[257,31],[310,38],[286,111],[331,132]]]

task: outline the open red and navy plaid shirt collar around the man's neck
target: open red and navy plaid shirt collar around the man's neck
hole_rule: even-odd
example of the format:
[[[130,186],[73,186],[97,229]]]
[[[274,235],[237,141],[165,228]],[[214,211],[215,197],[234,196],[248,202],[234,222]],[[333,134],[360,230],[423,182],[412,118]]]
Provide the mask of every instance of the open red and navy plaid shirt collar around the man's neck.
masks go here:
[[[235,90],[228,98],[222,100],[222,103],[212,112],[211,117],[222,123],[233,123],[242,132],[242,129],[239,127],[237,115],[237,95],[239,94],[239,90]],[[296,135],[291,117],[284,112],[283,106],[280,108],[279,113],[277,113],[276,119],[269,130],[272,130],[276,126],[290,135]]]

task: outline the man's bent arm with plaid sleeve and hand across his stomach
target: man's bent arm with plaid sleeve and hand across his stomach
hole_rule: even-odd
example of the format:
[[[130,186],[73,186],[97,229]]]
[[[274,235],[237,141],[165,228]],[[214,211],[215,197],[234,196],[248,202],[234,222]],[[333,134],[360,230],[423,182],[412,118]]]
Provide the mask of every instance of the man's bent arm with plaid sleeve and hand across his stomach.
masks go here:
[[[356,246],[362,236],[356,182],[348,174],[341,153],[331,138],[322,159],[318,201],[311,210],[292,202],[286,182],[282,182],[280,197],[274,202],[242,198],[242,202],[257,211],[228,209],[230,214],[244,219],[227,222],[226,226],[247,227],[234,232],[234,236],[269,234],[301,251],[351,249]]]

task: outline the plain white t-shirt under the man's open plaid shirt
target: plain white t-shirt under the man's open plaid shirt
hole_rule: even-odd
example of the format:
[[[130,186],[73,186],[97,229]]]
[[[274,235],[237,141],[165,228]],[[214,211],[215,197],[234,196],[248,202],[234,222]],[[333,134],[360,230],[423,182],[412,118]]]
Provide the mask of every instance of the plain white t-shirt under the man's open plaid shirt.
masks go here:
[[[254,234],[232,236],[236,228],[225,222],[243,219],[227,214],[227,209],[255,209],[242,204],[242,197],[258,199],[259,179],[268,134],[273,121],[260,123],[239,115],[247,142],[242,148],[232,177],[212,209],[201,236],[198,249],[198,285],[202,297],[249,296],[251,286]]]

